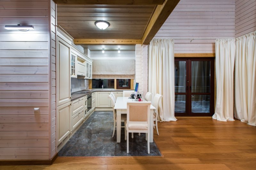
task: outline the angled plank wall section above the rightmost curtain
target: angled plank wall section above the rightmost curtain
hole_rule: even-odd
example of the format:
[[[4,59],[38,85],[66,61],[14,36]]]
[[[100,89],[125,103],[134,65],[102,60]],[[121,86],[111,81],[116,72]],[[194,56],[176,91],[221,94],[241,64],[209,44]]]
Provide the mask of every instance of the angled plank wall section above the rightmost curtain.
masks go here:
[[[236,0],[236,37],[256,30],[256,1]]]

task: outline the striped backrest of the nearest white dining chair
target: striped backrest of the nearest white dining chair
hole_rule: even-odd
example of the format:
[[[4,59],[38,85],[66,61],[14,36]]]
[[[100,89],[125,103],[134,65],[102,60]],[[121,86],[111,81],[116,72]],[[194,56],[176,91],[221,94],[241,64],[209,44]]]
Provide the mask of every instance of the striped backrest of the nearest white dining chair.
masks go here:
[[[150,121],[150,101],[127,102],[127,123],[144,123]]]

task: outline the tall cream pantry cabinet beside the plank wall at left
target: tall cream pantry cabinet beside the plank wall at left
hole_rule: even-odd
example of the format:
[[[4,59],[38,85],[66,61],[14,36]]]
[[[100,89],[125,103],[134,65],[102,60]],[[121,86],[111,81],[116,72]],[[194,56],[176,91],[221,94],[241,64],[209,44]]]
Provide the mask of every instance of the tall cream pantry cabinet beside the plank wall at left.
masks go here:
[[[71,133],[71,42],[72,37],[57,27],[56,57],[56,140],[57,148],[68,140]]]

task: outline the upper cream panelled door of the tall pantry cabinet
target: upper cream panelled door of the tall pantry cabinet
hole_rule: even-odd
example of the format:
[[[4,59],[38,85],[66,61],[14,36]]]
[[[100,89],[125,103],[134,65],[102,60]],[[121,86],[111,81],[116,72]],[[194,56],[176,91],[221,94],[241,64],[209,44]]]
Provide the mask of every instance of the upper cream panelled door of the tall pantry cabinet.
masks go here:
[[[70,101],[70,45],[57,37],[56,104]]]

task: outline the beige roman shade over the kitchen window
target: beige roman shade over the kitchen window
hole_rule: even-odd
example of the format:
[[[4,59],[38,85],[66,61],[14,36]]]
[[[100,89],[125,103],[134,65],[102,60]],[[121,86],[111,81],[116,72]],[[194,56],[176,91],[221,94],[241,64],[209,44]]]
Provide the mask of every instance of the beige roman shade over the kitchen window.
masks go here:
[[[93,60],[92,78],[134,79],[135,60]]]

